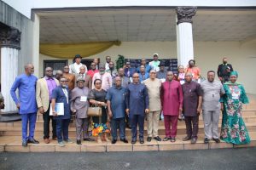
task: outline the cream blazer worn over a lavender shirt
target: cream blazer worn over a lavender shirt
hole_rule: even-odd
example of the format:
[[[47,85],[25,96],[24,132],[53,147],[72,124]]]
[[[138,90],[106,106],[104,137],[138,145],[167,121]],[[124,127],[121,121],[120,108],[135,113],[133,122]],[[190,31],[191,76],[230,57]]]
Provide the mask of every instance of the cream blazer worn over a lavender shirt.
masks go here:
[[[53,79],[55,80],[56,85],[59,86],[59,81],[55,78]],[[49,90],[45,78],[38,79],[36,88],[36,99],[38,108],[43,106],[44,111],[47,111],[49,108]]]

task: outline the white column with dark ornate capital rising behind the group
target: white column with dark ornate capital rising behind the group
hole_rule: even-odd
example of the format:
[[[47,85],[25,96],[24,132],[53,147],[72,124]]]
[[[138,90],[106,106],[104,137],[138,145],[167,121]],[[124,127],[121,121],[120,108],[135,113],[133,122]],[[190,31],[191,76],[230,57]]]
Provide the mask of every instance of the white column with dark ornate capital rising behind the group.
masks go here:
[[[192,17],[196,7],[177,7],[177,63],[188,65],[189,59],[194,59]]]

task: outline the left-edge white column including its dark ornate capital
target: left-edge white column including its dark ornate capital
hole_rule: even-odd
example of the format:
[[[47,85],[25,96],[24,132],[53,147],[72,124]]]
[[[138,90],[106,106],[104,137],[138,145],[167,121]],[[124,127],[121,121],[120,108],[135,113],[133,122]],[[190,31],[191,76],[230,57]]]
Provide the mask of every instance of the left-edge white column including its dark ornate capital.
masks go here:
[[[1,26],[1,93],[4,98],[4,112],[16,111],[15,102],[10,96],[10,88],[18,76],[20,53],[20,31],[9,26]]]

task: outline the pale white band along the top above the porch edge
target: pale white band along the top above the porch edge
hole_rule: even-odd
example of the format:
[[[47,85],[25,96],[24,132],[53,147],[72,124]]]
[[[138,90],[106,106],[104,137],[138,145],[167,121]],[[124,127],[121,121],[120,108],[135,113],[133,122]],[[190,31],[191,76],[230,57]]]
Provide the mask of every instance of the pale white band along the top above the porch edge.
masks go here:
[[[247,7],[256,6],[255,0],[3,0],[21,14],[31,17],[32,8],[125,7],[125,6],[197,6]]]

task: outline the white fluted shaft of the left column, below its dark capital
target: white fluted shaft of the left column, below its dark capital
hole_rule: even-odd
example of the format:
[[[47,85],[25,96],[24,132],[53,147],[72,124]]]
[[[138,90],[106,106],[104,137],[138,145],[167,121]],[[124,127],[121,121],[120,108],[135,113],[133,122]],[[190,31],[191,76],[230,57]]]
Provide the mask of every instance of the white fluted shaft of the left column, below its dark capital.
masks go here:
[[[10,88],[18,76],[19,49],[1,48],[1,93],[5,108],[3,111],[16,111],[16,105],[10,96]]]

